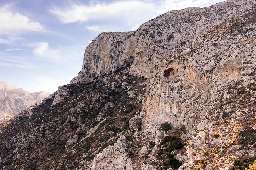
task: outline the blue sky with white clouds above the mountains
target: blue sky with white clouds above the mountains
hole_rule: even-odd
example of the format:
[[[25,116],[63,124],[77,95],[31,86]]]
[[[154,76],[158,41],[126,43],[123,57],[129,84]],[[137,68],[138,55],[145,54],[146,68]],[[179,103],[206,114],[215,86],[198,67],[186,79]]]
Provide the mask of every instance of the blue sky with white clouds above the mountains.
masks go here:
[[[0,1],[0,81],[33,93],[69,84],[104,31],[133,31],[171,10],[224,0]]]

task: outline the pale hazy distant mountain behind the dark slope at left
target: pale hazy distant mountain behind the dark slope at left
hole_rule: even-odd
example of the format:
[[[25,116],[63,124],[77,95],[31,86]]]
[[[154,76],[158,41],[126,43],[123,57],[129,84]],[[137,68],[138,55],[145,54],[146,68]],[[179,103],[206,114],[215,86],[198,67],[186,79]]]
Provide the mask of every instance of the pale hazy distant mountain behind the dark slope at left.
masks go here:
[[[17,115],[20,111],[27,109],[39,100],[43,100],[50,94],[50,92],[45,91],[29,93],[7,82],[0,82],[0,112],[7,116]]]

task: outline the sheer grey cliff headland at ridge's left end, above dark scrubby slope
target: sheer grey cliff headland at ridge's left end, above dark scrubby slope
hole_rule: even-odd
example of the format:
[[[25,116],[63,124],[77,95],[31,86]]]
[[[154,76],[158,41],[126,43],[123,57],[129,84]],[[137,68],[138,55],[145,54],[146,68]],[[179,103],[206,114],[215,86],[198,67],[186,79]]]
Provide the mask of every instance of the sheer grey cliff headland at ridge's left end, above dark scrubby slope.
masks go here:
[[[83,67],[71,83],[115,71],[126,65],[136,52],[136,32],[105,32],[85,49]]]

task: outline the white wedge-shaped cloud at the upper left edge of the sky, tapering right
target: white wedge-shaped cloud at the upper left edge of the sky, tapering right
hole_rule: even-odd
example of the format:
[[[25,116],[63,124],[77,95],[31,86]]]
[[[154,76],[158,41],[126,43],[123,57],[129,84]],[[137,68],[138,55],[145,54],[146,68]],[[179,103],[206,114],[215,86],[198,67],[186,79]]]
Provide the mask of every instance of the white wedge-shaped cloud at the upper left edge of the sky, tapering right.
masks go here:
[[[45,31],[39,22],[30,21],[27,16],[13,13],[8,5],[0,7],[0,35],[17,35],[26,31]]]

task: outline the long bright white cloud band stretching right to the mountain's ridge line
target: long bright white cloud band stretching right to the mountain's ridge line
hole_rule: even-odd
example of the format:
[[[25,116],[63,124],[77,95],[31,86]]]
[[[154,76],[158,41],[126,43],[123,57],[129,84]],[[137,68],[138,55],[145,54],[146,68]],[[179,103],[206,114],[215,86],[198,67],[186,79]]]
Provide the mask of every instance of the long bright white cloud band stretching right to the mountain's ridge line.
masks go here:
[[[179,10],[186,7],[206,7],[211,4],[224,0],[162,0],[162,1],[114,1],[110,3],[101,3],[96,1],[89,5],[68,1],[61,5],[53,5],[50,13],[55,15],[63,24],[88,21],[108,21],[109,25],[105,28],[99,25],[86,26],[89,31],[109,31],[108,26],[136,30],[143,22],[153,19],[160,14],[171,10]],[[129,30],[130,29],[130,30]],[[112,31],[112,30],[111,30]],[[114,30],[113,30],[114,31]],[[125,31],[125,30],[123,30]]]

